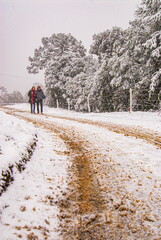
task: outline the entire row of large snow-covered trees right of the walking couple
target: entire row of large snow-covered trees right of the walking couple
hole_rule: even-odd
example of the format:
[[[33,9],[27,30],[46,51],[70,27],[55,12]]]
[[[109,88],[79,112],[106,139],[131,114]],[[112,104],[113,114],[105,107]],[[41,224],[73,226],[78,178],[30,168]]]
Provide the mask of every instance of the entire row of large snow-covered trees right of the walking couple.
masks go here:
[[[29,73],[44,70],[47,104],[76,111],[159,108],[161,90],[161,2],[142,0],[127,29],[94,34],[89,54],[71,34],[42,38],[29,57]]]

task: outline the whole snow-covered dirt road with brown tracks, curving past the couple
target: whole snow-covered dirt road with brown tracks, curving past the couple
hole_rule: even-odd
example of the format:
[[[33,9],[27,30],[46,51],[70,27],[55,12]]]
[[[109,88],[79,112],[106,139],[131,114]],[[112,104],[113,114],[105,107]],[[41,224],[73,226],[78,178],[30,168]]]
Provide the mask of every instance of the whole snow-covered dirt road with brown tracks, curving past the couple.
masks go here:
[[[4,240],[161,239],[159,133],[1,110],[38,135],[25,171],[1,196]]]

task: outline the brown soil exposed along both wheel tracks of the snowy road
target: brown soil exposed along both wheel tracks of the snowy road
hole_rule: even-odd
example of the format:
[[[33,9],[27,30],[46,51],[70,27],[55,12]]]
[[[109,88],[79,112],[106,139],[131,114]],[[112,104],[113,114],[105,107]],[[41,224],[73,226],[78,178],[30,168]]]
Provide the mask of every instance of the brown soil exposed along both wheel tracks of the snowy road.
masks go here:
[[[33,120],[29,115],[19,114],[19,110],[6,109],[6,112],[32,122],[37,127],[56,132],[66,143],[68,152],[64,154],[68,155],[72,163],[68,169],[68,189],[56,203],[60,212],[58,217],[62,239],[161,239],[161,233],[153,228],[158,216],[151,215],[149,202],[127,192],[118,176],[118,166],[108,153],[93,150],[91,143],[84,140],[74,127],[63,127],[42,119]],[[160,148],[161,139],[154,136],[154,133],[146,135],[143,131],[135,132],[134,129],[125,129],[115,124],[57,116],[55,118],[92,124],[127,136],[145,138]],[[157,226],[159,228],[160,225]]]

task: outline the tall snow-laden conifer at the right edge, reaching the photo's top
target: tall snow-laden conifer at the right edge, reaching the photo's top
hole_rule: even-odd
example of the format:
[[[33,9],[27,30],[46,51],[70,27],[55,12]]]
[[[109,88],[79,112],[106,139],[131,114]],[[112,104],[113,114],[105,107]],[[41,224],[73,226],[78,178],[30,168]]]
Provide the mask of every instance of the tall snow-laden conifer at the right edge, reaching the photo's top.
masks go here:
[[[144,74],[138,89],[140,90],[141,87],[146,92],[146,96],[148,96],[146,103],[149,104],[149,107],[147,106],[147,108],[155,109],[158,107],[158,94],[161,89],[160,0],[142,0],[140,7],[136,11],[136,18],[140,29],[144,28],[147,33],[146,39],[142,44],[145,48]]]

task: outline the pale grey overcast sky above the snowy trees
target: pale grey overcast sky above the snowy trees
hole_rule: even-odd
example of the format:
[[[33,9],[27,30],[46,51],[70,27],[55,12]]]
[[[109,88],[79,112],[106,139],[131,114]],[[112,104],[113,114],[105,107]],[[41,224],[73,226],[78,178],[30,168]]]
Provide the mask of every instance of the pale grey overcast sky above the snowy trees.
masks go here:
[[[92,36],[126,29],[141,0],[0,0],[0,85],[26,93],[43,73],[28,74],[28,57],[42,37],[71,33],[89,50]]]

